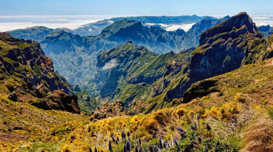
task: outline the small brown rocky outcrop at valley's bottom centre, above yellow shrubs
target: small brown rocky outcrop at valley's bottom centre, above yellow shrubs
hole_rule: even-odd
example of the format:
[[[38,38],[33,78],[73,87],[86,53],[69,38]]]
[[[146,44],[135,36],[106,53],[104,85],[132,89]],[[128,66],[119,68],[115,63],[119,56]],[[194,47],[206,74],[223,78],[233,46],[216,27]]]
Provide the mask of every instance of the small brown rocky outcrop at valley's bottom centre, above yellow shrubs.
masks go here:
[[[92,116],[89,118],[90,121],[94,119],[104,119],[107,117],[116,117],[116,116],[126,116],[130,115],[124,104],[121,101],[118,102],[108,102],[103,106],[98,106],[98,108],[92,112]]]

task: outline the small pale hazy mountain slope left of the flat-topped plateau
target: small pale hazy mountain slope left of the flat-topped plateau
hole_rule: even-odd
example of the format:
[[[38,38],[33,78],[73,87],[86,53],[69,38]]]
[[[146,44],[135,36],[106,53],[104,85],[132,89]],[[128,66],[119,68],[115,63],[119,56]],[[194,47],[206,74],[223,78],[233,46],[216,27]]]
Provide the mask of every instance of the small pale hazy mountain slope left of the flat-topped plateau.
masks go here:
[[[104,19],[98,22],[90,23],[83,25],[77,29],[73,30],[74,34],[79,34],[80,36],[94,36],[99,35],[101,31],[112,24],[113,21],[110,21],[108,19]]]

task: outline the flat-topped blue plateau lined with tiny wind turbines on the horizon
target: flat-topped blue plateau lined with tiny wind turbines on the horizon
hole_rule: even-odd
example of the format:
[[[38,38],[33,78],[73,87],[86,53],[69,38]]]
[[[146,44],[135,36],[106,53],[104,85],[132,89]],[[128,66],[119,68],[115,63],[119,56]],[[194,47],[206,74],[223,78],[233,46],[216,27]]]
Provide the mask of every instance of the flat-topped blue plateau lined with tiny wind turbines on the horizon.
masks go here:
[[[110,19],[111,21],[117,22],[124,19],[127,20],[134,20],[136,22],[141,22],[143,25],[146,23],[153,23],[153,24],[190,24],[190,23],[196,23],[207,16],[136,16],[136,17],[117,17]],[[212,19],[216,19],[214,17],[211,17]]]

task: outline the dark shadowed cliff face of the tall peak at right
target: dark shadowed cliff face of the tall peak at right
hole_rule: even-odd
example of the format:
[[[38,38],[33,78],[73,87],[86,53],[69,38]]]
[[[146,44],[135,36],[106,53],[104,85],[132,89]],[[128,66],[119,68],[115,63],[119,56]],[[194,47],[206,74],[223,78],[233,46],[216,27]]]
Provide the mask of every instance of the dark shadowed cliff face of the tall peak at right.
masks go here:
[[[245,12],[209,28],[200,36],[200,46],[192,53],[187,73],[167,92],[165,99],[182,98],[194,82],[260,60],[264,42],[265,38]]]

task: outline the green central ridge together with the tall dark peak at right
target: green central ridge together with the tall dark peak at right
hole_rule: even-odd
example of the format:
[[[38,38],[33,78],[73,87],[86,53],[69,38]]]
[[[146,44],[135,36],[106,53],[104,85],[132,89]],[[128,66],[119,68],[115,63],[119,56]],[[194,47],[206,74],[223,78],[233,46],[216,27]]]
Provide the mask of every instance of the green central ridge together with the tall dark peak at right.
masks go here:
[[[221,20],[204,22],[215,25]],[[200,22],[199,29],[206,29],[201,25]],[[213,90],[217,80],[212,80],[197,84],[202,91],[195,94],[197,85],[191,85],[197,81],[273,57],[272,37],[265,39],[247,13],[242,12],[205,30],[197,48],[177,54],[158,56],[127,41],[99,54],[95,81],[88,87],[96,88],[101,98],[123,101],[132,114],[148,113],[180,100],[187,103],[199,95],[217,92]],[[187,93],[182,99],[184,92]]]

